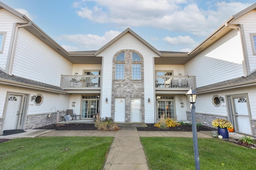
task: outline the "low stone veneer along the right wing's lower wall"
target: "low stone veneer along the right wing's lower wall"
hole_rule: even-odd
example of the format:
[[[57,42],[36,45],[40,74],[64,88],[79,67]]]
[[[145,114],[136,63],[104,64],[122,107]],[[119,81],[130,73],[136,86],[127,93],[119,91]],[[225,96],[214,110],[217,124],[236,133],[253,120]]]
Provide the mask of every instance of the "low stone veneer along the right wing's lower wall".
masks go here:
[[[191,112],[186,112],[187,113],[187,120],[192,121],[191,119]],[[202,113],[196,113],[196,121],[197,122],[205,122],[206,126],[212,127],[212,121],[214,119],[228,119],[227,116],[220,116],[220,115],[208,115],[208,114],[202,114]],[[251,125],[252,125],[252,135],[256,137],[256,120],[252,119],[251,120]],[[217,127],[214,127],[217,129]]]

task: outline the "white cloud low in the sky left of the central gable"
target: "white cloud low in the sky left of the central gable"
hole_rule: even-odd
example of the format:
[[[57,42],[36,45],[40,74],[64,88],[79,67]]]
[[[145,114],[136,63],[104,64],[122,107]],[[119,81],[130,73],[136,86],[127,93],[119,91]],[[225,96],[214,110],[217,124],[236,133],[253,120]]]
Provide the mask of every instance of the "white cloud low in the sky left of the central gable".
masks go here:
[[[98,50],[100,47],[104,46],[106,43],[108,43],[110,40],[112,40],[114,37],[116,37],[118,34],[120,34],[119,31],[106,31],[104,36],[100,37],[99,35],[92,35],[92,34],[74,34],[74,35],[60,35],[56,37],[56,40],[65,42],[65,44],[72,44],[72,46],[77,47],[76,49],[73,49],[74,47],[70,46],[62,46],[67,51],[70,50]]]

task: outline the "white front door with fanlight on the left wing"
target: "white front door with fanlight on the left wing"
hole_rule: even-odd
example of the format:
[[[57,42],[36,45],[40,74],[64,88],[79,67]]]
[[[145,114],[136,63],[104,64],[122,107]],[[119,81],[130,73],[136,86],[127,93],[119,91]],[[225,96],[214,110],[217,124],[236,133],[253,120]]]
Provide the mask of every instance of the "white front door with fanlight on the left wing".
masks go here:
[[[22,115],[22,99],[23,96],[9,95],[3,130],[12,130],[19,127]]]

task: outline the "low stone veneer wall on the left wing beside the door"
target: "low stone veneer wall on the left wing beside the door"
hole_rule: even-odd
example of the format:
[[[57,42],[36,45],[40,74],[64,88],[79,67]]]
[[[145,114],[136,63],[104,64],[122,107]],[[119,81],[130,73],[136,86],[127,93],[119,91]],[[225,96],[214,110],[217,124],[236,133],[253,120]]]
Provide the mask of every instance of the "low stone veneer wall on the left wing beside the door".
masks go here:
[[[57,120],[57,113],[52,113],[51,117],[48,117],[49,113],[42,113],[37,115],[28,115],[26,120],[26,127],[25,129],[34,129],[46,125],[56,124]],[[59,114],[59,121],[60,117],[67,115],[66,111],[62,111]]]

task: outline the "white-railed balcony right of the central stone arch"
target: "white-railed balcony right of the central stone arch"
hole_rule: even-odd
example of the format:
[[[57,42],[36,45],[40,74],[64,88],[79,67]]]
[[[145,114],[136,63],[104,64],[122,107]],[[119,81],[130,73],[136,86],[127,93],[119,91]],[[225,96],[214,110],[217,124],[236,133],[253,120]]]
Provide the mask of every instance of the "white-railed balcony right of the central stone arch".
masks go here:
[[[156,90],[190,90],[196,88],[196,76],[156,76]]]

